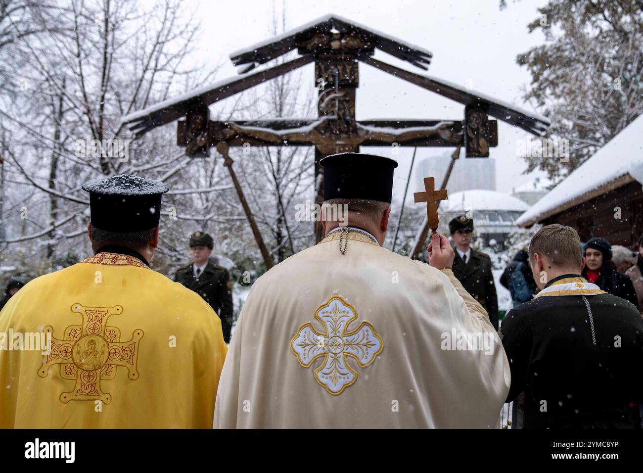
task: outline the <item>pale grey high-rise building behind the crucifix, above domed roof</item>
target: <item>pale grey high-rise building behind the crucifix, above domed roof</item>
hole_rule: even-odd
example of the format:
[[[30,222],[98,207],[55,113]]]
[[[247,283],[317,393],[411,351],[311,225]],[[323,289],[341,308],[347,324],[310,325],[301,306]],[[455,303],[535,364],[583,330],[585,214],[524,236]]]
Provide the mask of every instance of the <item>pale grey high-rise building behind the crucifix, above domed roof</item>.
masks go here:
[[[464,158],[461,154],[453,166],[447,189],[460,192],[470,189],[496,190],[496,160],[493,158]],[[435,177],[436,188],[442,184],[444,174],[451,162],[451,153],[431,156],[417,163],[415,167],[415,186],[424,189],[424,178]]]

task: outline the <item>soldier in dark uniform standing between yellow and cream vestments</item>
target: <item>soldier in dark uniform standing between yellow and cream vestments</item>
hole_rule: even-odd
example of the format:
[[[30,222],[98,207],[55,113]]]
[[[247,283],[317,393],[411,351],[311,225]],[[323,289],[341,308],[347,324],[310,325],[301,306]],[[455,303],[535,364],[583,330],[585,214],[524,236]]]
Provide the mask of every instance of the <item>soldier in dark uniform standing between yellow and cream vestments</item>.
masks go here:
[[[228,270],[213,264],[209,257],[212,254],[214,241],[203,232],[195,232],[190,237],[192,263],[177,270],[174,281],[199,294],[210,304],[221,318],[223,339],[230,343],[232,329],[232,283]]]

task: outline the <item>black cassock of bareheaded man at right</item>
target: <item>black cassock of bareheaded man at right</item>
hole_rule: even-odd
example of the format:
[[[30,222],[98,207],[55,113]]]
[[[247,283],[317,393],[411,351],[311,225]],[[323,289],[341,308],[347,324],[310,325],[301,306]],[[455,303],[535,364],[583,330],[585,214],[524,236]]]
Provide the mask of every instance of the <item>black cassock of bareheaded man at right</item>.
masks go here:
[[[545,288],[570,278],[582,277],[562,275]],[[525,392],[525,429],[635,425],[643,321],[633,304],[608,293],[541,295],[512,309],[501,331],[511,367],[507,402]]]

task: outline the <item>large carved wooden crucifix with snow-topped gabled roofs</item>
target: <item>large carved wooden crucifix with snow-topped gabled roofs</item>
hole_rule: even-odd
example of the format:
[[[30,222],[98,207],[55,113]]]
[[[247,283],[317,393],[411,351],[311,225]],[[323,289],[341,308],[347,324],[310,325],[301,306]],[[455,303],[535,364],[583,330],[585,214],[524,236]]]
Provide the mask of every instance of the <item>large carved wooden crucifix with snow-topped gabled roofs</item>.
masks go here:
[[[464,146],[467,157],[482,158],[489,156],[489,149],[498,144],[498,124],[496,120],[489,120],[489,115],[538,136],[549,124],[546,118],[529,115],[473,91],[374,59],[372,56],[376,49],[422,70],[427,69],[432,57],[430,51],[338,15],[326,15],[280,35],[273,42],[263,42],[232,53],[231,60],[240,68],[239,76],[125,116],[122,122],[140,136],[154,127],[185,116],[186,119],[177,125],[177,145],[185,146],[186,154],[194,157],[209,156],[211,147],[225,149],[224,158],[231,176],[232,163],[227,156],[229,147],[314,146],[314,195],[319,205],[323,199],[323,168],[319,162],[329,154],[358,152],[361,146],[391,149]],[[293,50],[297,50],[300,57],[271,68],[255,70],[260,64]],[[210,104],[312,62],[315,64],[314,84],[318,88],[317,118],[210,120]],[[359,62],[463,104],[464,119],[356,120]],[[239,199],[245,202],[238,181],[233,178],[233,183]],[[272,262],[248,205],[244,205],[244,212],[269,267]],[[317,241],[323,237],[322,232],[321,223],[316,221]]]

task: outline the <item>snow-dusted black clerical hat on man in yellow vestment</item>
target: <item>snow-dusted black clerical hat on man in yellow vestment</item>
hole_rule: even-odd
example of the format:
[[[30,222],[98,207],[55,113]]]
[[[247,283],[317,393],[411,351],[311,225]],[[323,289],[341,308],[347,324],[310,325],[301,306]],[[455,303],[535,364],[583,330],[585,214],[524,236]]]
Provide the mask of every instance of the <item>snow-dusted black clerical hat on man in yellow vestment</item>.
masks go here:
[[[169,187],[131,174],[84,183],[89,192],[91,225],[116,233],[140,232],[159,224],[161,194]]]

